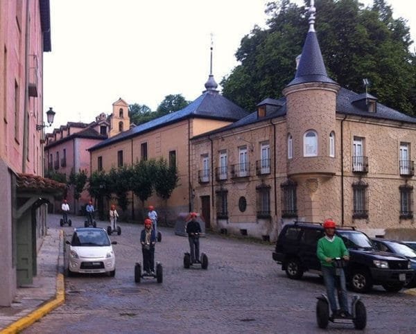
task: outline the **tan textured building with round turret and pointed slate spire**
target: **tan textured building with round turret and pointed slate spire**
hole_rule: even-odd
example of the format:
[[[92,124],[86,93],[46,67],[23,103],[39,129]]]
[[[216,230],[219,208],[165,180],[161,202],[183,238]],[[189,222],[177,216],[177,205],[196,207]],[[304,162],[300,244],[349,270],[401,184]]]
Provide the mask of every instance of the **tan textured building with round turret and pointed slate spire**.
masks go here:
[[[215,229],[265,240],[293,220],[372,235],[412,227],[416,118],[328,77],[313,15],[283,95],[191,139],[196,210]]]

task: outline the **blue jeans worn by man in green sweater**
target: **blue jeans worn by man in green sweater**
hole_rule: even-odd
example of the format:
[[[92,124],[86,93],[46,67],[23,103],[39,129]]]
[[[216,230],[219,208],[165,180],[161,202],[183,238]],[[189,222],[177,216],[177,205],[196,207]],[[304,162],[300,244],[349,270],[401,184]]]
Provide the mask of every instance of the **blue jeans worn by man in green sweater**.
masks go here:
[[[336,276],[335,267],[327,267],[326,265],[322,265],[321,267],[322,276],[324,276],[325,287],[327,288],[327,296],[329,299],[329,304],[331,306],[332,313],[336,312],[336,310],[338,309],[335,299],[335,289],[336,285],[338,285],[338,279],[340,281],[338,285],[338,303],[340,304],[340,309],[343,312],[349,312],[344,270],[341,269],[340,276]]]

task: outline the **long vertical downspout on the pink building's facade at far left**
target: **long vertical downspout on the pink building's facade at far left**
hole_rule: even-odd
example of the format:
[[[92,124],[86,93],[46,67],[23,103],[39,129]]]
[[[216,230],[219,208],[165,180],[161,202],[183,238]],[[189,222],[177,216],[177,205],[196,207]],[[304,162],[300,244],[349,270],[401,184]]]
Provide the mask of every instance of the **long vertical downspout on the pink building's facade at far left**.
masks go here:
[[[28,99],[29,99],[29,0],[26,0],[26,27],[25,27],[25,50],[24,50],[24,113],[23,113],[23,155],[22,155],[22,164],[21,171],[26,173],[26,159],[28,158],[28,121],[26,114],[28,113]],[[43,121],[43,111],[42,111],[42,121]],[[41,130],[43,131],[43,129]]]

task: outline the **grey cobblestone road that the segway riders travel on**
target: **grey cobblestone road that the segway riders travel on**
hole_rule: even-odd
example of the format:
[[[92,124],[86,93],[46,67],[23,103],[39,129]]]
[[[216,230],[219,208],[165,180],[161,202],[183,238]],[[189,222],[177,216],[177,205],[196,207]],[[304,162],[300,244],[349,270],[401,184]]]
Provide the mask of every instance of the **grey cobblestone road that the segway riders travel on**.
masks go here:
[[[58,226],[58,216],[51,216]],[[73,218],[73,225],[83,221]],[[106,227],[98,222],[98,227]],[[272,261],[271,245],[221,236],[201,239],[209,267],[184,269],[187,238],[162,228],[156,261],[164,281],[134,281],[134,265],[141,262],[142,225],[120,224],[116,275],[65,278],[66,302],[24,333],[319,333],[315,297],[324,291],[318,276],[301,281],[286,277]],[[72,228],[64,227],[71,235]],[[365,333],[415,331],[416,297],[375,288],[363,295],[367,307]],[[352,326],[330,324],[336,332]]]

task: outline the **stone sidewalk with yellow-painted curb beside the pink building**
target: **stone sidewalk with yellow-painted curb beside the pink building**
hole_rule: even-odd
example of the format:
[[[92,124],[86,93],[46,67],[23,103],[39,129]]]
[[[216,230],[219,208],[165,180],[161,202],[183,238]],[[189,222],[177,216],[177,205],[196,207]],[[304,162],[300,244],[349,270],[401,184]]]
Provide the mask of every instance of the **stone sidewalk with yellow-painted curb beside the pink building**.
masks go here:
[[[0,306],[0,333],[19,333],[64,303],[64,236],[49,228],[37,254],[33,284],[17,289],[10,307]]]

